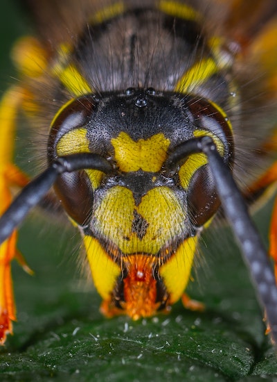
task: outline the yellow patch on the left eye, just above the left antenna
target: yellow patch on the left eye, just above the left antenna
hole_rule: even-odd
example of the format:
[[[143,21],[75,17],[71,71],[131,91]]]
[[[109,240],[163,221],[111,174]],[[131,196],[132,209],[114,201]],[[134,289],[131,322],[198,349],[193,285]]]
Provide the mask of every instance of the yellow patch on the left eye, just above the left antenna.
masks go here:
[[[57,155],[64,156],[74,153],[89,153],[87,128],[74,128],[64,134],[57,142]]]

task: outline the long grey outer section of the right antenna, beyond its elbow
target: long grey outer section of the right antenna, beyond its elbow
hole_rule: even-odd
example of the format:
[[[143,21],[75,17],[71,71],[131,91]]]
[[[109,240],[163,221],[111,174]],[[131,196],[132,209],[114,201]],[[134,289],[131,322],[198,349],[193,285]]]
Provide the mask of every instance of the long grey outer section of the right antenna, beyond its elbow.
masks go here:
[[[215,143],[210,137],[205,137],[201,145],[202,151],[208,158],[224,213],[240,244],[253,283],[258,290],[260,303],[265,308],[271,339],[277,343],[277,288],[267,251],[248,213],[242,194],[218,153]]]

